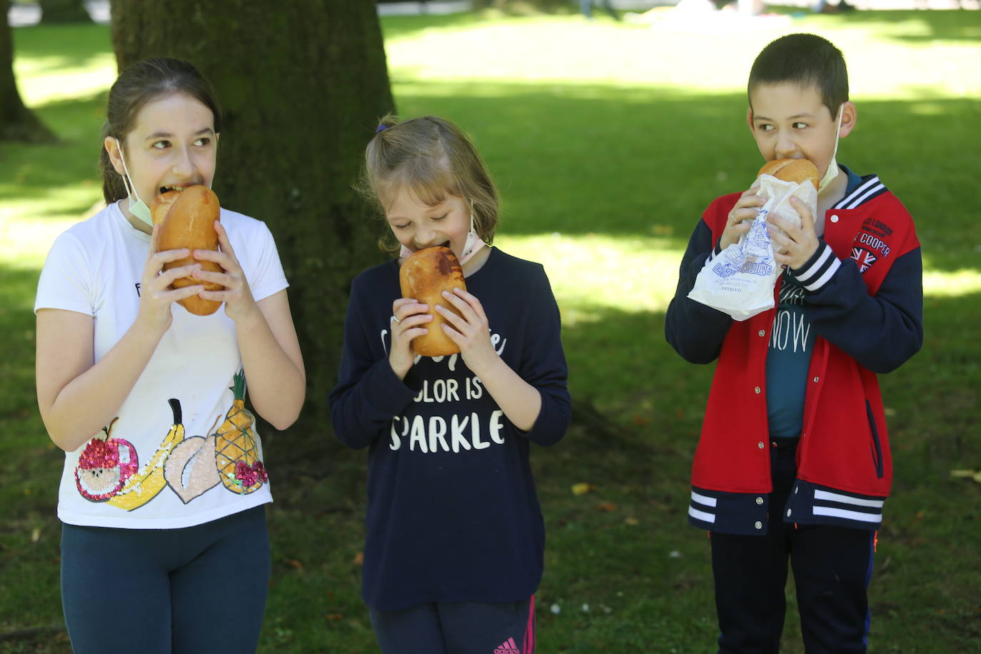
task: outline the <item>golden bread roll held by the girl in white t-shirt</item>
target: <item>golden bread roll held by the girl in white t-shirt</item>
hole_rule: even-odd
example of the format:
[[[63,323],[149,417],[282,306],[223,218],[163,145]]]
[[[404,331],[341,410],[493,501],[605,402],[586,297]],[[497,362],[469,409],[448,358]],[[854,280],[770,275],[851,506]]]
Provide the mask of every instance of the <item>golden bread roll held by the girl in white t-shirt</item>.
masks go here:
[[[221,207],[218,196],[207,186],[200,184],[188,186],[182,191],[168,191],[153,199],[150,212],[153,224],[160,225],[160,235],[157,237],[157,251],[179,250],[218,250],[218,232],[215,231],[215,221],[220,220]],[[191,256],[164,264],[164,270],[201,264],[202,270],[212,273],[222,273],[222,267],[213,261],[199,261]],[[211,281],[203,281],[194,277],[181,277],[171,284],[173,288],[204,284],[205,290],[224,290],[225,286]],[[196,316],[209,316],[222,303],[217,300],[205,300],[197,295],[185,297],[181,306]]]

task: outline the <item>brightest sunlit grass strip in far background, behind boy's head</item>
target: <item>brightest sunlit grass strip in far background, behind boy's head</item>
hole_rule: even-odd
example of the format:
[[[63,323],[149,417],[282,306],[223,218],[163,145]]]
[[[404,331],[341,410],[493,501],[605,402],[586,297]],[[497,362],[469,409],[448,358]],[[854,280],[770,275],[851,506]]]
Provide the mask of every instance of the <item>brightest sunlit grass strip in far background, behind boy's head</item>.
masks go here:
[[[542,17],[434,27],[394,37],[386,49],[392,81],[408,84],[413,93],[433,92],[433,82],[477,79],[718,93],[745,88],[749,65],[762,44],[783,33],[814,31],[833,39],[851,63],[888,62],[890,69],[904,72],[882,75],[879,67],[852,65],[852,88],[863,97],[922,97],[923,88],[910,80],[929,83],[931,95],[981,96],[976,39],[931,36],[932,25],[925,19],[860,27],[848,20],[802,17],[777,29],[708,34]]]

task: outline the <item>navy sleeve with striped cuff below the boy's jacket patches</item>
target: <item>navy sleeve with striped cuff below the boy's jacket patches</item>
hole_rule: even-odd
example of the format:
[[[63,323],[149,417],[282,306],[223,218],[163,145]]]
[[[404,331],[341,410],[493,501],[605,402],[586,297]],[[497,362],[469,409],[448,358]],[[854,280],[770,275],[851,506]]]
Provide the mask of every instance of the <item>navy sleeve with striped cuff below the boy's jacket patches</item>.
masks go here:
[[[890,373],[923,346],[923,263],[916,247],[896,260],[875,295],[854,261],[824,241],[800,270],[816,332],[873,373]]]

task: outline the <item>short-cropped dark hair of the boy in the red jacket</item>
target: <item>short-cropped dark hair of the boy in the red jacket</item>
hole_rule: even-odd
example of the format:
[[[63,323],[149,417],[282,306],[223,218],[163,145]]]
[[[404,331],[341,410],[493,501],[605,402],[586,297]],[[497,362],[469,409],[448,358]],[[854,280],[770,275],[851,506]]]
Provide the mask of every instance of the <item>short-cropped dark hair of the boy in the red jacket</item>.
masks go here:
[[[816,34],[787,34],[760,51],[749,70],[749,108],[756,84],[785,81],[815,86],[832,119],[838,118],[839,108],[849,99],[849,72],[842,51]]]

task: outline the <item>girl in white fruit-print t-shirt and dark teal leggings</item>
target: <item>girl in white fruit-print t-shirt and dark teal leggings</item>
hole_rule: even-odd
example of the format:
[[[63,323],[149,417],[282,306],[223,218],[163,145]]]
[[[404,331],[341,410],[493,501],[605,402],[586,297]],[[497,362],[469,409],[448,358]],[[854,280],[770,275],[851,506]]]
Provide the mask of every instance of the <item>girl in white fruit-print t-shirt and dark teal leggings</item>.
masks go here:
[[[38,282],[37,401],[65,450],[58,500],[62,598],[85,652],[254,651],[272,501],[255,410],[297,418],[305,374],[269,229],[222,209],[220,252],[163,271],[147,204],[211,186],[222,116],[190,64],[149,59],[109,93],[106,208],[69,228]],[[170,289],[179,277],[213,281]],[[210,316],[178,301],[223,304]],[[107,649],[108,648],[108,649]]]

